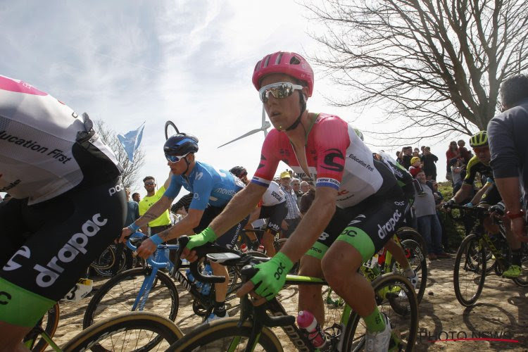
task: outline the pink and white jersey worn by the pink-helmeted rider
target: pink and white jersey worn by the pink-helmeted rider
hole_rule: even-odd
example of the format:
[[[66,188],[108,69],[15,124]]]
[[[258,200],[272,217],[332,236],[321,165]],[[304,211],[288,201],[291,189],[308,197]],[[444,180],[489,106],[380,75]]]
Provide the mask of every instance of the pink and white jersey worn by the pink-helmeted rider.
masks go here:
[[[308,170],[299,165],[287,135],[271,130],[262,146],[260,164],[251,182],[268,187],[279,161],[283,161],[303,180],[315,180],[316,187],[337,189],[336,201],[340,208],[354,206],[382,187],[383,177],[374,166],[372,152],[353,127],[336,115],[318,115],[308,134],[304,152]]]

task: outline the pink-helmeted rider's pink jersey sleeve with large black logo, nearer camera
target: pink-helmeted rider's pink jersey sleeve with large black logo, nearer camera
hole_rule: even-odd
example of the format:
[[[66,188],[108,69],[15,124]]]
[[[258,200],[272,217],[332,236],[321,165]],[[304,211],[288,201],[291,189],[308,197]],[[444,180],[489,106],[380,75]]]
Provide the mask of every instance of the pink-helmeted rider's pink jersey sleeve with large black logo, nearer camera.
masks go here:
[[[318,175],[315,186],[339,189],[343,178],[346,149],[351,143],[348,124],[337,116],[328,116],[318,122],[314,132]]]

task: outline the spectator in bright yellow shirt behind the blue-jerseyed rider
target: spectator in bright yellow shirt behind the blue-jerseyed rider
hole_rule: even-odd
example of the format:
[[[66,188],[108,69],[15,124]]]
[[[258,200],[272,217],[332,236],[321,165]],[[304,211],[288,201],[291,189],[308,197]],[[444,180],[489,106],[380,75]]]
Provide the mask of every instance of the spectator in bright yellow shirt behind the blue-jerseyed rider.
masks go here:
[[[146,196],[139,201],[139,216],[143,216],[143,214],[146,213],[146,210],[149,210],[153,203],[156,203],[163,196],[169,182],[170,175],[167,181],[165,181],[165,184],[156,191],[156,179],[154,177],[147,176],[143,179]],[[158,218],[149,222],[148,226],[150,227],[150,234],[153,235],[162,232],[163,230],[167,230],[170,225],[169,210],[165,210],[165,212],[163,212]],[[144,234],[149,233],[147,230],[146,226],[142,227],[142,232]]]

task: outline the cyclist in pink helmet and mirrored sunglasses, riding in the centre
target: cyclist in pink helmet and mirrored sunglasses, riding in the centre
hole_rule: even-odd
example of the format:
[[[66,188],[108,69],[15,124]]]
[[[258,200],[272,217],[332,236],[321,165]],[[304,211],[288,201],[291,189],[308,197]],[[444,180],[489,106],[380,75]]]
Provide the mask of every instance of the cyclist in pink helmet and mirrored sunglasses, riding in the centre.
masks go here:
[[[253,85],[275,129],[265,138],[253,180],[207,231],[222,235],[243,218],[268,188],[279,161],[287,163],[301,179],[315,183],[315,199],[289,241],[270,261],[255,266],[258,272],[239,294],[250,292],[256,304],[270,300],[302,257],[301,275],[325,277],[364,318],[368,348],[386,351],[390,322],[357,270],[391,239],[407,201],[391,170],[374,160],[353,127],[336,115],[308,112],[313,83],[313,70],[301,55],[279,51],[258,61]],[[189,249],[209,240],[198,236],[184,250],[190,260],[196,256]],[[310,310],[323,325],[321,287],[299,287],[298,300],[299,308]]]

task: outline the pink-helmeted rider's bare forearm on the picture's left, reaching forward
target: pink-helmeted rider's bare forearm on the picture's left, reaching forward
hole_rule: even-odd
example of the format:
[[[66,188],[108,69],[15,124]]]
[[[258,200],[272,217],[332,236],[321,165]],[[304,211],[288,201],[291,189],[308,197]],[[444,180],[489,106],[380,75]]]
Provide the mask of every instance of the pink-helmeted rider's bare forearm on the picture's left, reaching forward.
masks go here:
[[[213,229],[217,236],[221,236],[246,218],[249,214],[249,209],[254,209],[257,206],[265,191],[266,187],[255,183],[248,184],[234,195],[222,213],[210,223],[209,227]]]

